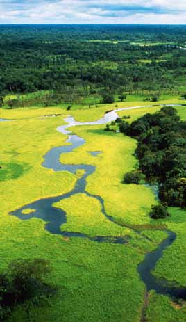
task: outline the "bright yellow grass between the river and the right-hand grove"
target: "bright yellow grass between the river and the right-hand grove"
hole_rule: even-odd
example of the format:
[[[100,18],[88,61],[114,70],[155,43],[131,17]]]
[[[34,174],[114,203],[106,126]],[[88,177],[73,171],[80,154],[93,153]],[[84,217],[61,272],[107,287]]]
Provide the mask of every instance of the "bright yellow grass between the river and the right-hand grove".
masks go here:
[[[136,141],[123,134],[103,131],[105,126],[74,127],[76,134],[85,138],[85,145],[62,155],[62,163],[85,163],[96,166],[96,171],[87,178],[87,191],[100,195],[105,209],[114,218],[123,218],[126,223],[149,223],[151,204],[155,204],[152,191],[135,184],[122,184],[124,173],[137,167],[133,153]],[[87,151],[101,151],[96,157]]]

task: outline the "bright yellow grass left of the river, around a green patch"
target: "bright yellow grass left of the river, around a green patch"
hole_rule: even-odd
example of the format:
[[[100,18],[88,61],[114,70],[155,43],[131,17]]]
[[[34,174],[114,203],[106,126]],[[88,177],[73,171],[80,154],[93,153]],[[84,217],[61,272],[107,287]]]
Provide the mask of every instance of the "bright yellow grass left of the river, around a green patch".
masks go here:
[[[34,200],[66,193],[74,187],[75,175],[42,166],[44,154],[67,140],[56,131],[60,124],[62,120],[57,118],[1,122],[0,163],[26,163],[29,169],[17,179],[1,182],[1,215]]]

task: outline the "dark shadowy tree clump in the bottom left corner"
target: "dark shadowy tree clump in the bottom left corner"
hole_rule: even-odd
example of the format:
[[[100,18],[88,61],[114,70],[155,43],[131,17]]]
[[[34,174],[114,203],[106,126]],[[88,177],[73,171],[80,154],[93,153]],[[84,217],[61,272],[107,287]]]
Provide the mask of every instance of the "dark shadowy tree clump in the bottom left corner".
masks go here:
[[[51,271],[45,259],[17,259],[8,266],[7,273],[0,274],[0,321],[6,321],[19,304],[30,318],[34,305],[43,305],[56,291],[44,282],[44,276]]]

